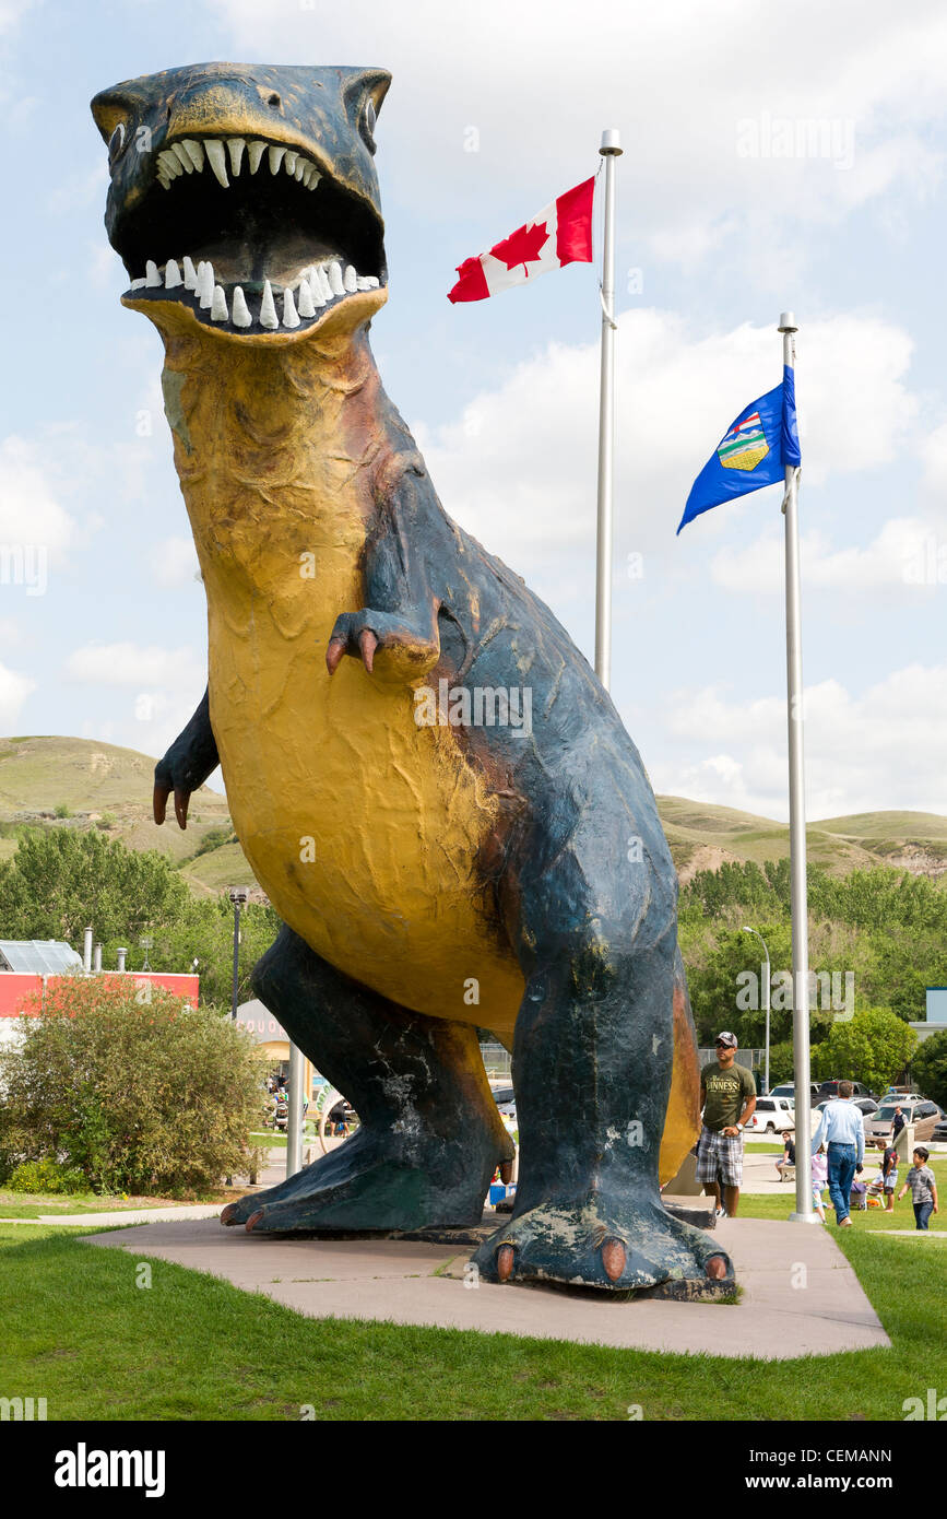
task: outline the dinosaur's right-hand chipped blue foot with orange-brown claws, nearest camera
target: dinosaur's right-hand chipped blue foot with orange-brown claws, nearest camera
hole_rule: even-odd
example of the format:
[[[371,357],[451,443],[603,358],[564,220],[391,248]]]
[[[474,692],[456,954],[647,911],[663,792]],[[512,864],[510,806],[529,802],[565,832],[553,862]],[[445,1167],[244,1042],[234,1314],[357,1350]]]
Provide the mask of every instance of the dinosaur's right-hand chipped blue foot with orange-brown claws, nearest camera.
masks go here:
[[[474,1256],[487,1282],[558,1282],[612,1293],[719,1297],[733,1264],[704,1230],[659,1202],[590,1195],[513,1214]]]

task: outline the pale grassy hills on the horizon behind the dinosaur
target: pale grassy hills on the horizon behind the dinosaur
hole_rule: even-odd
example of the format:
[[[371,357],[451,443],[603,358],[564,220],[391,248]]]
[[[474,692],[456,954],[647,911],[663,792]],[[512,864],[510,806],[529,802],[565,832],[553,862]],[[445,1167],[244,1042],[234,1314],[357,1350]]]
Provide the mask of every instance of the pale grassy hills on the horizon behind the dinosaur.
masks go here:
[[[199,895],[253,886],[226,797],[203,785],[191,797],[185,832],[173,817],[156,828],[153,769],[155,761],[135,749],[87,738],[0,738],[0,860],[17,848],[23,825],[102,828],[131,849],[162,851]],[[725,860],[762,864],[789,854],[789,828],[769,817],[681,796],[659,796],[657,805],[684,881]],[[886,864],[947,876],[947,817],[936,813],[827,817],[809,825],[807,840],[810,861],[836,873]]]

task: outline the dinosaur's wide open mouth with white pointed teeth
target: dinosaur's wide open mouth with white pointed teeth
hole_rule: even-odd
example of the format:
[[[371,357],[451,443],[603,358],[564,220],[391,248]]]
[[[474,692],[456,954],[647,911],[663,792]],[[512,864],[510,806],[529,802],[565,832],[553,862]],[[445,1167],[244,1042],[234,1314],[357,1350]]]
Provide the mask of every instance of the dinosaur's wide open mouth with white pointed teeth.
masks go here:
[[[184,305],[237,336],[316,327],[385,283],[372,208],[313,153],[263,138],[165,143],[114,242],[126,296]]]

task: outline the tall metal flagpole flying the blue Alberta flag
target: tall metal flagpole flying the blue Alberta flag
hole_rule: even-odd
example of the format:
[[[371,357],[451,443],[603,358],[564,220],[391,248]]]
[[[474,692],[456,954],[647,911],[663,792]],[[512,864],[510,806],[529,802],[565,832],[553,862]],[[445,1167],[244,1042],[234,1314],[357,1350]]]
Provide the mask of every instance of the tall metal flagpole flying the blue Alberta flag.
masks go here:
[[[798,331],[780,316],[783,365],[795,372]],[[798,468],[786,465],[786,705],[789,728],[789,867],[792,892],[792,1069],[795,1077],[794,1223],[816,1223],[812,1211],[812,1095],[809,1092],[809,902],[806,887],[806,769],[803,747],[803,630],[800,614]]]

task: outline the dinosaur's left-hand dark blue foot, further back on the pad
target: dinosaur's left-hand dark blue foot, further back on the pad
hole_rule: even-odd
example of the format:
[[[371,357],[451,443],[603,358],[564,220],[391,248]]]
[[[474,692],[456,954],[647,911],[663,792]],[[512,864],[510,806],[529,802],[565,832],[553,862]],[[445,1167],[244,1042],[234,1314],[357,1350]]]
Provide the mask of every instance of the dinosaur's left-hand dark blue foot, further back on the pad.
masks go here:
[[[443,1141],[431,1141],[429,1153],[416,1138],[410,1150],[398,1148],[392,1135],[363,1127],[285,1182],[229,1203],[220,1221],[244,1224],[247,1233],[469,1227],[483,1217],[499,1159],[455,1165],[448,1176]]]

